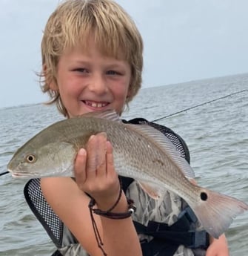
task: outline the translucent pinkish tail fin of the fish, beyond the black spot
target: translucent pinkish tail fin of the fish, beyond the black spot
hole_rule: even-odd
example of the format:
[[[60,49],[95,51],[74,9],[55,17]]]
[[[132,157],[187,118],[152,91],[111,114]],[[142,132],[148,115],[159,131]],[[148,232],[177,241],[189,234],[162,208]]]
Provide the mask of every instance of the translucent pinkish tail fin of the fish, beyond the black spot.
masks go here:
[[[248,205],[241,200],[215,191],[202,188],[201,196],[205,199],[207,196],[207,199],[201,200],[196,207],[190,207],[204,229],[215,238],[218,238],[229,228],[232,220],[238,214],[248,210]]]

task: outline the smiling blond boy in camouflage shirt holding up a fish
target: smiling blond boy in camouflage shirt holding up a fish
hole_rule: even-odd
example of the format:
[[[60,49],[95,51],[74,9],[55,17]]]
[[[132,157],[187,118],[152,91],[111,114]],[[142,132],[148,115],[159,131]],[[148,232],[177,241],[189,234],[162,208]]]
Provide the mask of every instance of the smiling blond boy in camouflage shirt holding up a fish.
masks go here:
[[[56,102],[58,110],[67,118],[105,110],[121,115],[141,87],[141,35],[130,16],[113,1],[64,1],[47,22],[41,50],[42,90],[50,94],[50,103]],[[180,137],[173,136],[184,144]],[[182,155],[184,151],[187,151],[185,145]],[[48,203],[47,207],[63,223],[59,224],[62,230],[56,255],[194,255],[192,249],[183,245],[172,246],[171,252],[170,245],[165,249],[157,245],[155,250],[150,249],[153,237],[138,235],[130,217],[113,220],[91,216],[88,207],[91,198],[102,211],[127,212],[129,204],[113,163],[110,142],[103,134],[96,134],[90,137],[87,148],[78,152],[75,180],[49,177],[36,182],[44,196],[41,203]],[[133,181],[125,192],[137,204],[133,218],[144,225],[150,219],[172,225],[182,210],[181,199],[168,192],[161,206],[152,207],[153,212],[145,214],[141,206],[149,204],[151,199],[138,184]],[[172,204],[171,212],[166,207],[168,200]],[[163,214],[157,216],[163,209]],[[44,215],[43,225],[49,221]],[[227,255],[224,235],[218,240],[211,239],[207,256]]]

